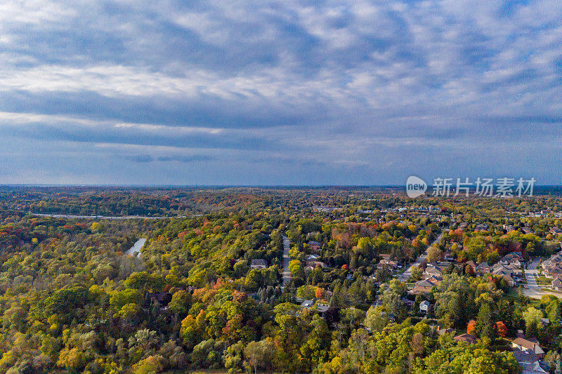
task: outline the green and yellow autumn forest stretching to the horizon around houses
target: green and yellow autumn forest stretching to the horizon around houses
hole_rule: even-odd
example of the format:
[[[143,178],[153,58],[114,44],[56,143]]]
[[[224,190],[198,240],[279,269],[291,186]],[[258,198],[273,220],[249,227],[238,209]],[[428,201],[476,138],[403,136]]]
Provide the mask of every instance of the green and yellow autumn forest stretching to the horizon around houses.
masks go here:
[[[556,194],[2,187],[0,373],[521,373],[521,333],[561,373],[559,298],[470,266],[557,253],[561,211]]]

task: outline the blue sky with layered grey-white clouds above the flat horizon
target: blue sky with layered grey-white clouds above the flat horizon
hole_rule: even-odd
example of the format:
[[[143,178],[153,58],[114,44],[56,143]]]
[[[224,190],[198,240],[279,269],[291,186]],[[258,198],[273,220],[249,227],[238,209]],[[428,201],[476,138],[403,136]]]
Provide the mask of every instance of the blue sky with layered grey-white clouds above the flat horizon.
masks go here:
[[[0,2],[0,184],[562,184],[552,1]]]

